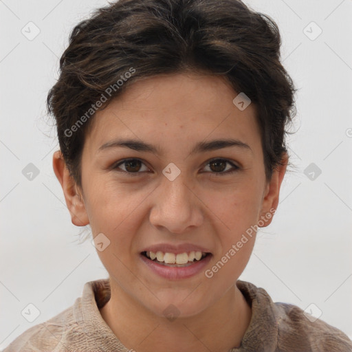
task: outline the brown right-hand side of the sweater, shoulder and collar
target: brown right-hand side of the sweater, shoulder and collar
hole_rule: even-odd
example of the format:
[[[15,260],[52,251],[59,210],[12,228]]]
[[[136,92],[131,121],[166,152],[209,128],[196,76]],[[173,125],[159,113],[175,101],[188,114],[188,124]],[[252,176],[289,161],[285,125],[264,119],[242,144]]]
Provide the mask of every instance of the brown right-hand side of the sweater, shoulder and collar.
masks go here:
[[[276,352],[352,352],[348,336],[296,305],[272,301],[265,289],[237,281],[252,306],[252,320],[245,342],[248,346],[270,346]],[[246,341],[252,340],[252,342]]]

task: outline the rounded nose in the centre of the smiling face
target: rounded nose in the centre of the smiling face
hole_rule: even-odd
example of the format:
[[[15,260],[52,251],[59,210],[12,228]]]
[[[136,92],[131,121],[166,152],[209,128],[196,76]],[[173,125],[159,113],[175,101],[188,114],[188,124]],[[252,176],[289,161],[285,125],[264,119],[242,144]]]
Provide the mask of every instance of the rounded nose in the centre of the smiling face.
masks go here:
[[[149,215],[151,224],[166,228],[173,234],[182,234],[203,223],[199,196],[179,175],[173,181],[165,177],[153,192],[153,208]]]

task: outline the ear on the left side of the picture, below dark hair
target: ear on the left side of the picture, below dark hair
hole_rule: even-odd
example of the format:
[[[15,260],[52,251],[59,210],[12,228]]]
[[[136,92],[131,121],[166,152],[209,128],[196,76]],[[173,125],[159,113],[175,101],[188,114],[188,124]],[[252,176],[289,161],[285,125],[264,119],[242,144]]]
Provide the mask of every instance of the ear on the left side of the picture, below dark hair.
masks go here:
[[[85,209],[85,202],[80,194],[73,177],[69,174],[61,151],[56,151],[52,157],[54,173],[63,188],[63,194],[72,223],[76,226],[85,226],[89,223],[89,217]]]

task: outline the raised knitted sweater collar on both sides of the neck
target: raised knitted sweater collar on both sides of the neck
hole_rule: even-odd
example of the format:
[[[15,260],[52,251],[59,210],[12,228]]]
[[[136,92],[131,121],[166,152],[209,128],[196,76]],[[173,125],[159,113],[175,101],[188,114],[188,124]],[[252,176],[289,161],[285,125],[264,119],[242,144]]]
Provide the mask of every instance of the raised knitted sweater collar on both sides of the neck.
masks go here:
[[[265,352],[275,351],[278,344],[278,322],[275,305],[263,288],[252,283],[238,280],[236,286],[245,300],[252,307],[250,325],[245,331],[241,346],[231,352],[258,352],[266,347]],[[101,309],[110,299],[109,279],[89,281],[83,287],[83,295],[74,305],[74,318],[88,336],[95,335],[97,346],[115,348],[128,352],[102,318]],[[109,343],[109,346],[107,346]]]

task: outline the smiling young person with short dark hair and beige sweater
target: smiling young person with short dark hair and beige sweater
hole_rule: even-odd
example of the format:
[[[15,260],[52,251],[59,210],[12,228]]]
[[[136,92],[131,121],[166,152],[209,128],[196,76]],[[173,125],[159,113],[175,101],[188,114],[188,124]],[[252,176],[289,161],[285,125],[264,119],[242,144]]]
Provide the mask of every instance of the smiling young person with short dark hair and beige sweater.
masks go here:
[[[74,28],[53,167],[109,280],[8,351],[352,351],[238,278],[278,206],[294,84],[238,0],[120,0]]]

